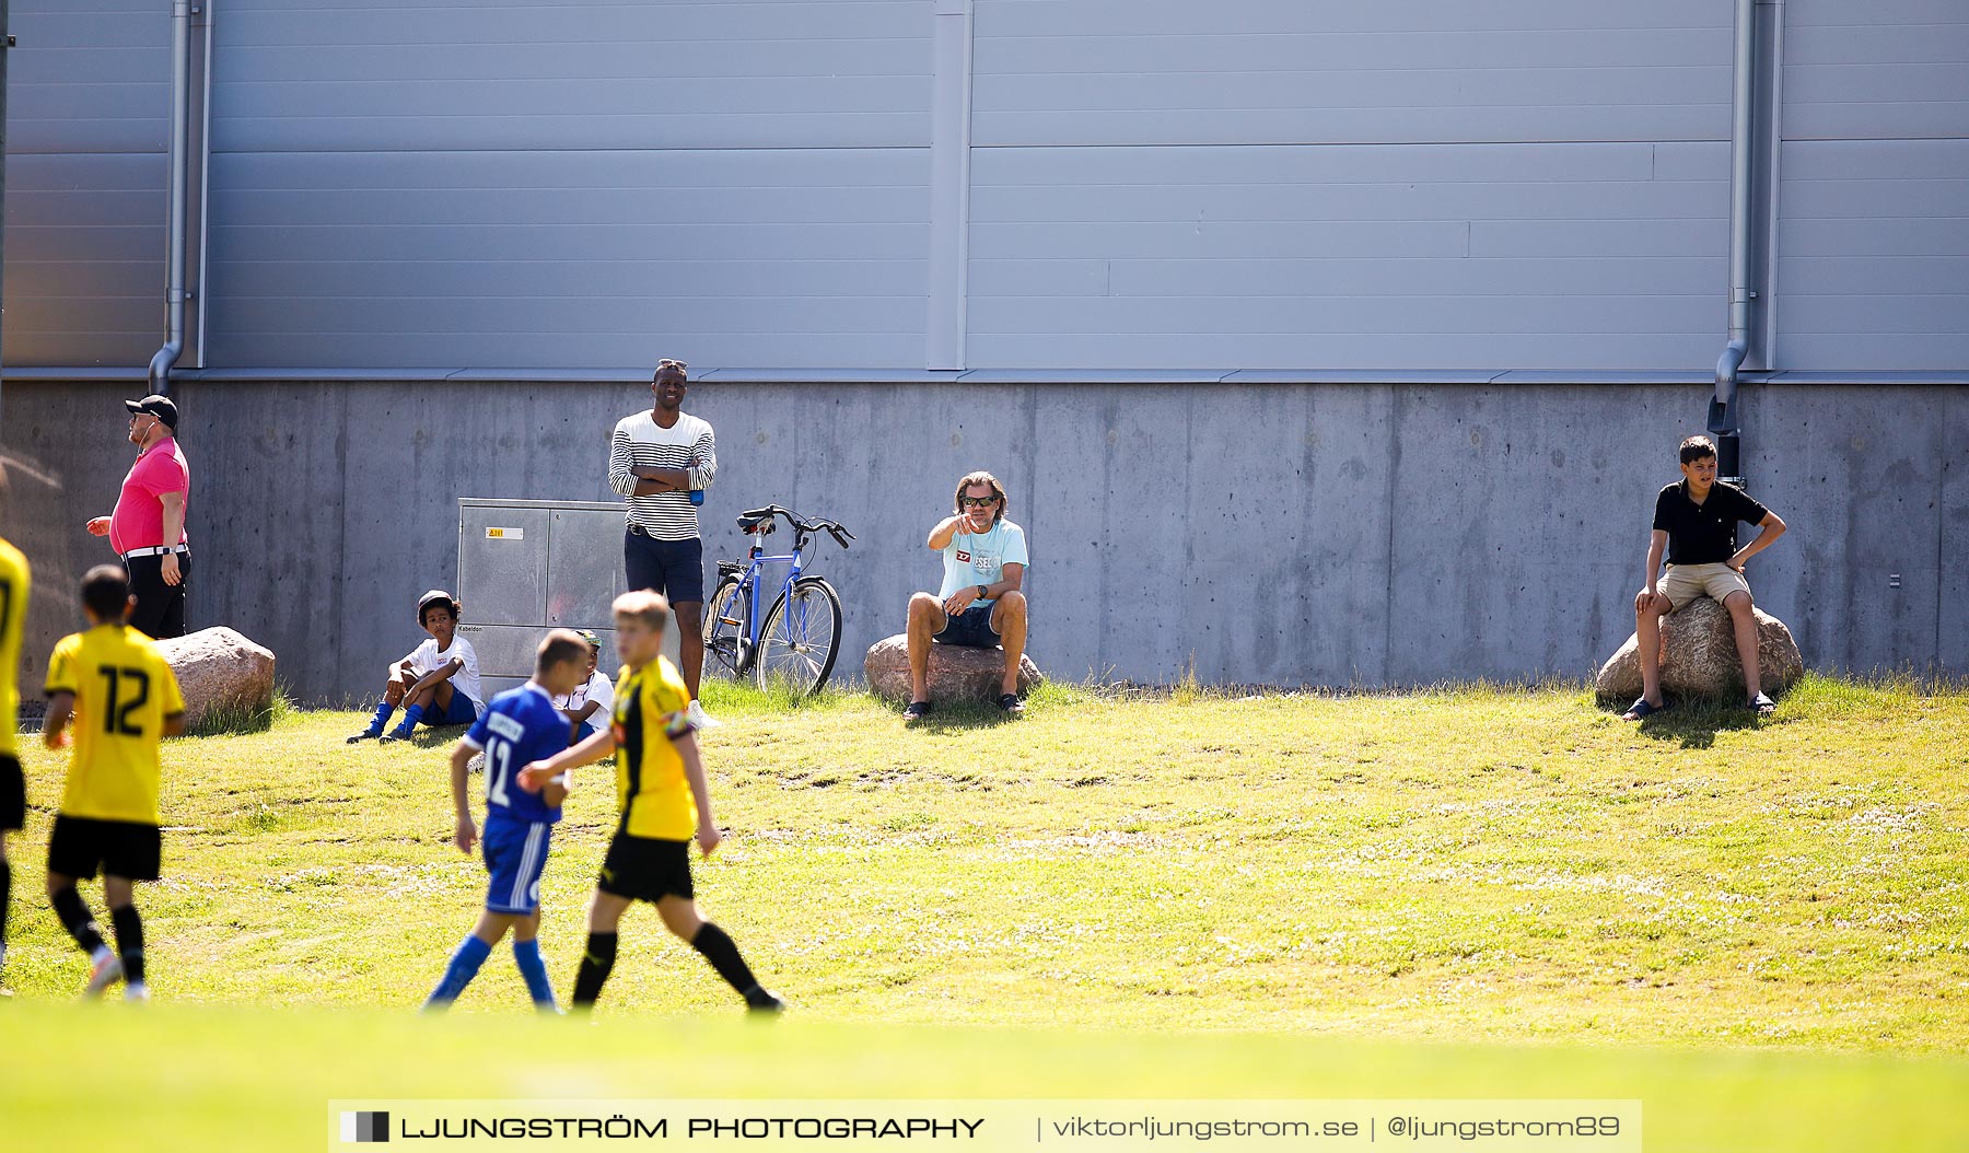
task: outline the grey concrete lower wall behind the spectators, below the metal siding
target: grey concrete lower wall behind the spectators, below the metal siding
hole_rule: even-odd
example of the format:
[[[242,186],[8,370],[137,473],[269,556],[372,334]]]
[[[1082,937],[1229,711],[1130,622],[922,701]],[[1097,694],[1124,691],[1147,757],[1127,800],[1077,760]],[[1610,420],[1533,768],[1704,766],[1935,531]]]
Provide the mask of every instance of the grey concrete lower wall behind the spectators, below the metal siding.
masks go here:
[[[35,565],[26,683],[108,557],[83,519],[128,464],[116,384],[10,384],[0,533]],[[193,626],[280,653],[309,700],[372,691],[455,580],[457,498],[604,500],[603,384],[185,382]],[[1034,655],[1067,679],[1384,685],[1579,677],[1632,628],[1654,492],[1693,386],[746,386],[719,429],[713,555],[732,514],[843,519],[823,545],[843,665],[933,586],[955,478],[992,468],[1034,551]],[[1819,669],[1969,671],[1969,388],[1748,386],[1752,492],[1790,535],[1758,600]],[[1888,576],[1900,575],[1900,588]]]

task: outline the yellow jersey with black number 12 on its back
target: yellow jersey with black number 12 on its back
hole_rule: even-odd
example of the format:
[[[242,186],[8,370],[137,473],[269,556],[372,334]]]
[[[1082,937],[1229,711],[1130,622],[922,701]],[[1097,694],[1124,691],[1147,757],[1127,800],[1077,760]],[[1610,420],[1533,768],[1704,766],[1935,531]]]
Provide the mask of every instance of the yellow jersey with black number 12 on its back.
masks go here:
[[[47,695],[75,695],[75,756],[61,813],[159,824],[158,742],[163,718],[185,710],[158,643],[124,624],[61,637],[47,659]]]

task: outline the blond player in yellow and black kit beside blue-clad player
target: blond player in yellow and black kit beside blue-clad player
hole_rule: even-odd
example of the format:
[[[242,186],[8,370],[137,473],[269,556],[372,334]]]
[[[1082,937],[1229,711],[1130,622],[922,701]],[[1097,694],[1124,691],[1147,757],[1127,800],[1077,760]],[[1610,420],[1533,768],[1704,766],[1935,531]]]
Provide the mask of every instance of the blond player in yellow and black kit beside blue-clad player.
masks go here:
[[[656,905],[664,925],[701,952],[711,968],[754,1011],[776,1013],[786,1001],[766,992],[746,968],[738,946],[705,921],[691,889],[691,834],[705,856],[723,834],[711,820],[711,791],[697,759],[697,736],[685,710],[691,695],[677,667],[664,657],[669,602],[648,588],[614,602],[616,679],[614,724],[520,771],[522,789],[543,789],[563,771],[616,758],[616,799],[622,807],[614,840],[589,905],[589,946],[575,976],[575,1009],[589,1009],[616,958],[616,927],[636,901]]]

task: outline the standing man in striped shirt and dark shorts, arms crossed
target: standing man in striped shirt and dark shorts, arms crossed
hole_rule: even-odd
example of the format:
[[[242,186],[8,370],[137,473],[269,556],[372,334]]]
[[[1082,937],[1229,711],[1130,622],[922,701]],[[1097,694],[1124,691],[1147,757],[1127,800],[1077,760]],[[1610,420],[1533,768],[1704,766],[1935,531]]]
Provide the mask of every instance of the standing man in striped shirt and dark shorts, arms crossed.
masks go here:
[[[697,531],[697,506],[719,470],[711,425],[685,415],[689,392],[685,364],[660,360],[650,382],[656,407],[616,421],[608,443],[608,488],[622,494],[628,525],[622,567],[628,590],[664,594],[677,614],[677,657],[691,691],[695,728],[717,728],[705,716],[697,687],[705,673],[705,541]]]

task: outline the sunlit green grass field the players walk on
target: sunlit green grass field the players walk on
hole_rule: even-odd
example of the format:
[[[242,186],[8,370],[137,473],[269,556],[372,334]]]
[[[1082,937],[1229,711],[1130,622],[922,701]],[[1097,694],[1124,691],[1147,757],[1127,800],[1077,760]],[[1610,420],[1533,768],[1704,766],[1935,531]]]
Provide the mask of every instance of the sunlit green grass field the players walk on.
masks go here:
[[[1577,689],[707,706],[699,897],[794,1001],[766,1029],[650,913],[591,1025],[534,1021],[506,950],[415,1017],[484,887],[455,734],[350,750],[347,712],[167,746],[158,1003],[69,1005],[30,748],[8,1131],[63,1147],[106,1092],[73,1070],[114,1066],[144,1120],[313,1145],[329,1096],[524,1092],[488,1045],[522,1035],[601,1096],[1638,1096],[1650,1149],[1969,1147],[1969,693],[1640,728]],[[543,883],[563,996],[610,817],[591,769]]]

